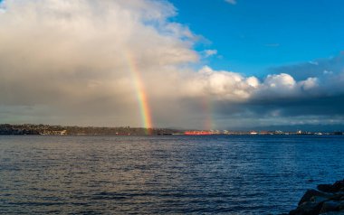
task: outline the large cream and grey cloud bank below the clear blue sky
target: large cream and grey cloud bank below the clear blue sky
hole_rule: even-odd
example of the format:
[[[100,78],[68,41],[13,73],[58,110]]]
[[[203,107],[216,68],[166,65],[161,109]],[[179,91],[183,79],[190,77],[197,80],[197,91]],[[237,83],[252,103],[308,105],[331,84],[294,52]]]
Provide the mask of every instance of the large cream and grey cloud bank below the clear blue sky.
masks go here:
[[[142,126],[135,72],[155,126],[343,123],[343,55],[258,79],[193,69],[216,51],[194,51],[197,36],[170,21],[177,12],[165,1],[8,0],[0,8],[4,123]]]

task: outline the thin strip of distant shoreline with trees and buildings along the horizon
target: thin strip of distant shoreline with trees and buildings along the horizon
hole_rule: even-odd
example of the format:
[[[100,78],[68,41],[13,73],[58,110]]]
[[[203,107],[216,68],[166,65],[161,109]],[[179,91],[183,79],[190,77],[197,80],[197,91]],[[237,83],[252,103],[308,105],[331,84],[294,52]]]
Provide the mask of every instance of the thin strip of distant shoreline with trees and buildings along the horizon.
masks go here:
[[[20,136],[342,136],[343,132],[308,132],[308,131],[228,131],[228,130],[183,130],[172,128],[145,127],[100,127],[100,126],[51,126],[51,125],[11,125],[1,124],[0,135]]]

